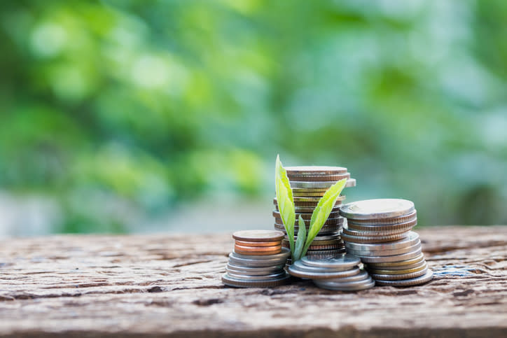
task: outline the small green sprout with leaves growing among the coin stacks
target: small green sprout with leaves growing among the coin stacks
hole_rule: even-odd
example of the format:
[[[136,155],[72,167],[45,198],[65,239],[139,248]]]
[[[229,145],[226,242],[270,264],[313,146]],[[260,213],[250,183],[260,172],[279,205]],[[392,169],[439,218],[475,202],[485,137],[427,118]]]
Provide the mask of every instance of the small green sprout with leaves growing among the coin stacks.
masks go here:
[[[312,218],[310,218],[310,227],[308,233],[306,231],[305,220],[301,215],[299,216],[299,230],[298,239],[294,243],[294,223],[296,222],[296,207],[294,206],[294,198],[292,195],[291,183],[287,177],[287,171],[284,169],[279,155],[277,155],[277,162],[275,164],[275,190],[277,193],[278,210],[282,222],[284,223],[287,237],[289,237],[289,245],[291,247],[291,255],[293,262],[299,260],[306,255],[310,244],[317,236],[319,231],[326,223],[329,214],[333,210],[336,199],[340,196],[347,178],[336,182],[329,188],[324,196],[321,197],[317,207],[315,207]]]

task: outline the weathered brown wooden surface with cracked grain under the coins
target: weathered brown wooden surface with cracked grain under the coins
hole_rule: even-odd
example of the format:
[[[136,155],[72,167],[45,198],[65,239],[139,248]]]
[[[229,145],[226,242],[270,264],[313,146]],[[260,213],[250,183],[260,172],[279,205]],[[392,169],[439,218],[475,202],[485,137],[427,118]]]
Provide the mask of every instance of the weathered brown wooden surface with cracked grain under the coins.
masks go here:
[[[230,234],[0,241],[0,337],[507,337],[507,227],[416,231],[433,281],[359,293],[225,287]]]

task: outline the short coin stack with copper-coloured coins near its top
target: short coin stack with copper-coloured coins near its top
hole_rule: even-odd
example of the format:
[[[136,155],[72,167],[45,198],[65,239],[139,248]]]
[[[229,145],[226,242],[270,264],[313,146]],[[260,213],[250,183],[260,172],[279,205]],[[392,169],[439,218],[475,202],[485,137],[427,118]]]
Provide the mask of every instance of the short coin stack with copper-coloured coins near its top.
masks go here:
[[[222,282],[237,288],[279,286],[289,279],[284,267],[291,251],[282,248],[284,233],[244,230],[232,234],[234,252],[229,254]]]

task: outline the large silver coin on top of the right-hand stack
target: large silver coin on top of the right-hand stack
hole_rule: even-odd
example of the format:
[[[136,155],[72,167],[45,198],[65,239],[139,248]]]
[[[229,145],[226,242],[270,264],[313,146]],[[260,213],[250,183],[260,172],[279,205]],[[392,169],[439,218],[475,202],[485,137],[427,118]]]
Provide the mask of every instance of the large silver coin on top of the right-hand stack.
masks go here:
[[[407,199],[366,199],[345,204],[340,208],[340,214],[352,219],[371,220],[395,218],[414,210],[414,203]]]

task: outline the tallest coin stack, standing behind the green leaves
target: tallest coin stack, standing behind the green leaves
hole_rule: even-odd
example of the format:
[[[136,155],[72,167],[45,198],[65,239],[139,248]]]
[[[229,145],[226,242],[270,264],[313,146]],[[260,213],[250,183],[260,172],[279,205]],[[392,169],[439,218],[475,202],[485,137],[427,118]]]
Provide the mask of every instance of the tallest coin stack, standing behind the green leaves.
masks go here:
[[[299,215],[305,220],[307,230],[310,227],[310,219],[312,213],[319,203],[319,200],[324,193],[331,187],[331,185],[347,178],[346,187],[354,187],[356,180],[350,178],[347,168],[343,167],[285,167],[287,176],[291,183],[293,192],[294,205],[296,207],[296,223],[294,224],[294,241],[297,240],[299,231]],[[344,218],[340,216],[339,208],[345,196],[338,197],[335,207],[331,211],[326,223],[320,230],[317,237],[312,241],[308,248],[307,255],[315,258],[333,257],[340,253],[345,252],[345,244],[340,237],[340,230],[342,229]],[[280,217],[278,210],[277,199],[273,199],[275,204],[275,229],[285,233],[284,223]],[[284,248],[289,248],[289,239],[285,237],[282,241]],[[288,265],[291,264],[291,259],[287,260]]]

